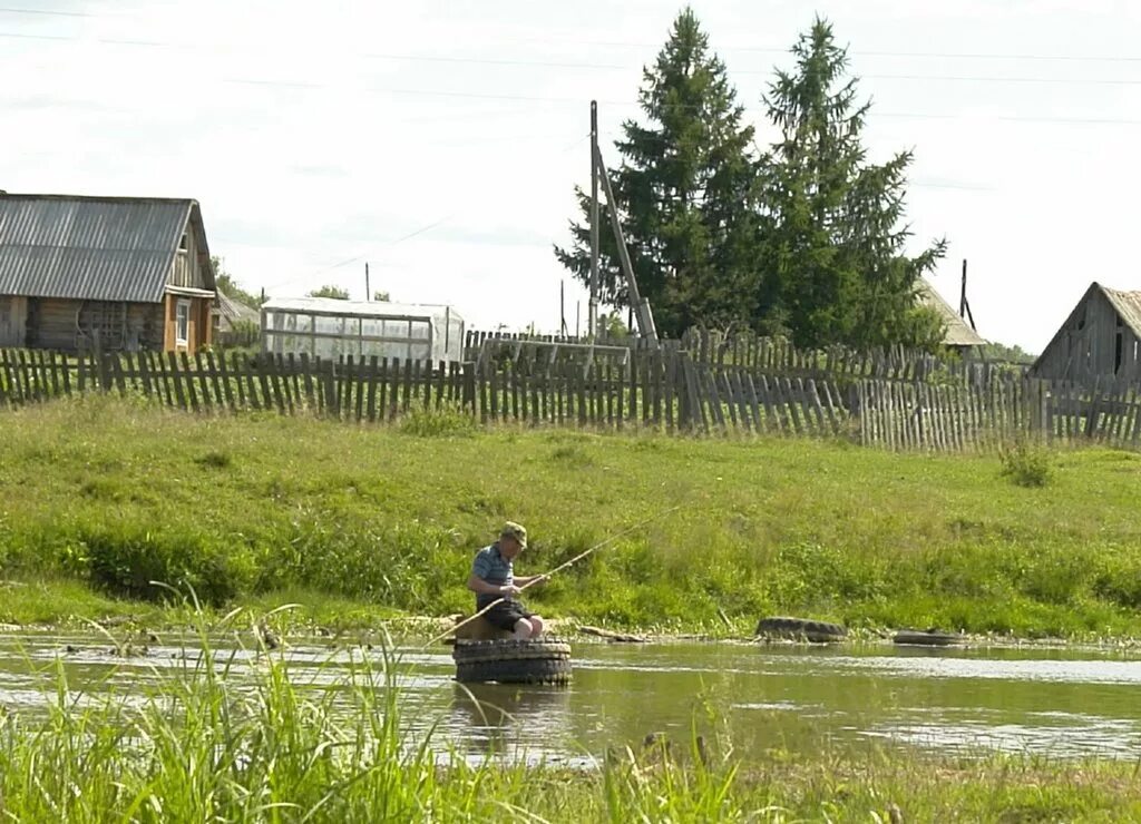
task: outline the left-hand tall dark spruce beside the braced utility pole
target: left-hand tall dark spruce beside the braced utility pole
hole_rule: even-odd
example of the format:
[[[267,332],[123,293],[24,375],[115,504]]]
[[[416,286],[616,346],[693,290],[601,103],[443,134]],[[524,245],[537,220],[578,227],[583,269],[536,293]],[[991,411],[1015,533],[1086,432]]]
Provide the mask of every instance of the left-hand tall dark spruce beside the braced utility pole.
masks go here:
[[[756,294],[753,128],[742,123],[725,64],[691,9],[674,21],[653,67],[642,72],[645,124],[623,123],[612,168],[622,230],[658,332],[695,324],[747,324]],[[604,153],[604,160],[606,160]],[[613,157],[613,155],[612,155]],[[613,162],[613,161],[612,161]],[[590,283],[590,198],[576,187],[582,222],[555,254]],[[608,210],[600,210],[600,299],[629,305]]]

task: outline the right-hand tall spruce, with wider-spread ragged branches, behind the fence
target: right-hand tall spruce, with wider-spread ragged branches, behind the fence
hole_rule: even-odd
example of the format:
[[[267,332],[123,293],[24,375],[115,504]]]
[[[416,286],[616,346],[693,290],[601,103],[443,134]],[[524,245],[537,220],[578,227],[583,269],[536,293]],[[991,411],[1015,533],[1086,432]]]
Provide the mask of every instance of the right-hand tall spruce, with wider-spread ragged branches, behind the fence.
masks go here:
[[[869,103],[857,103],[847,50],[817,18],[764,97],[779,140],[762,158],[763,272],[758,326],[784,328],[799,345],[932,346],[942,335],[916,305],[917,279],[942,256],[938,240],[914,258],[904,219],[911,152],[867,162]]]

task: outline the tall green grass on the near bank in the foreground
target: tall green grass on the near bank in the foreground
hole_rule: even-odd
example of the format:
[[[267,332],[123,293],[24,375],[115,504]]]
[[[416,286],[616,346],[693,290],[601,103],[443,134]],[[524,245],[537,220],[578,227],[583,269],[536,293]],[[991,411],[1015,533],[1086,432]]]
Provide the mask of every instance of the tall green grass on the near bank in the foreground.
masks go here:
[[[400,720],[383,655],[315,679],[262,655],[204,653],[129,703],[43,674],[46,719],[0,715],[0,816],[13,821],[1122,821],[1134,764],[877,752],[741,762],[733,742],[615,741],[593,767],[470,761]],[[306,687],[314,678],[319,687]],[[299,686],[299,680],[302,684]],[[338,688],[332,690],[330,686]],[[695,739],[696,742],[696,739]],[[901,818],[895,816],[901,816]]]

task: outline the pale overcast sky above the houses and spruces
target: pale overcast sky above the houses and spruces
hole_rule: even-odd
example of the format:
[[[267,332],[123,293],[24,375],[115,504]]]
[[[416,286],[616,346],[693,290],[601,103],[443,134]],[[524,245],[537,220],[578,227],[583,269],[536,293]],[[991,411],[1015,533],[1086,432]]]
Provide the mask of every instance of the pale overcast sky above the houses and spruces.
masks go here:
[[[541,329],[585,297],[558,266],[573,187],[638,114],[680,3],[648,0],[0,0],[0,188],[193,197],[251,291],[323,284]],[[915,248],[989,340],[1041,351],[1092,280],[1141,288],[1141,5],[694,2],[741,101],[814,13],[874,101],[873,160],[911,148]]]

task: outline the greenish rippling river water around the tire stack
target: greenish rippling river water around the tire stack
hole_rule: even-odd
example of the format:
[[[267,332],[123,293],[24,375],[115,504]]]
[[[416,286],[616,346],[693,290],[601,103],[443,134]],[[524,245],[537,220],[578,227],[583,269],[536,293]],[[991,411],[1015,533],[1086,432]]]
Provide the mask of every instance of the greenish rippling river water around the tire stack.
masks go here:
[[[177,677],[193,646],[115,658],[92,636],[0,636],[0,705],[42,712],[58,663],[98,700],[140,700]],[[71,647],[71,648],[68,648]],[[727,729],[743,758],[837,749],[993,751],[1055,758],[1141,756],[1141,652],[889,645],[666,643],[573,645],[567,687],[461,686],[448,647],[398,651],[403,718],[440,748],[479,758],[589,764],[652,732],[686,740]],[[252,652],[235,648],[235,678]],[[230,654],[227,652],[227,654]],[[350,655],[319,643],[282,653],[299,684],[335,688]]]

